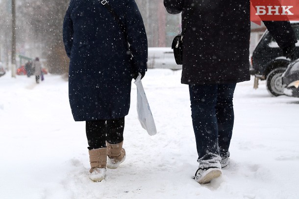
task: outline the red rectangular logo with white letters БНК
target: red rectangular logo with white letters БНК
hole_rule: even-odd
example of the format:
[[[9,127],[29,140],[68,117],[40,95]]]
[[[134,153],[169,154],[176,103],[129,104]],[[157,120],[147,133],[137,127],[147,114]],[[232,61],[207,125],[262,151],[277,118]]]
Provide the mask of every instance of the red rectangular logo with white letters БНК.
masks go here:
[[[299,0],[250,0],[250,21],[299,21]]]

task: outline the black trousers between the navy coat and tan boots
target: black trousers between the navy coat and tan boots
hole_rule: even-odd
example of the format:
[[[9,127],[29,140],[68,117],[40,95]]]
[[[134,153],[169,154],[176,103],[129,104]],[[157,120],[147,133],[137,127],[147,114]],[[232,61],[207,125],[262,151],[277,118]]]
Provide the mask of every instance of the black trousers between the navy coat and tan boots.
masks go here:
[[[109,120],[86,121],[86,136],[88,149],[106,147],[106,141],[110,144],[118,144],[124,140],[125,117]]]

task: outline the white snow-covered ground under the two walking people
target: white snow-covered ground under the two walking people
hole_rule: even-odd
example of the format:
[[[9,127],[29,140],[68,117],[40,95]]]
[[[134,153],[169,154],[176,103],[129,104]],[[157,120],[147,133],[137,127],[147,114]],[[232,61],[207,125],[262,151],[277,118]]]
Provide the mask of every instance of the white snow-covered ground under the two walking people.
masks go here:
[[[231,165],[210,184],[198,163],[188,86],[181,71],[151,69],[143,79],[157,134],[141,128],[132,84],[125,118],[127,158],[92,182],[85,123],[73,120],[68,83],[45,75],[0,77],[0,199],[298,199],[299,98],[271,97],[261,82],[239,83]]]

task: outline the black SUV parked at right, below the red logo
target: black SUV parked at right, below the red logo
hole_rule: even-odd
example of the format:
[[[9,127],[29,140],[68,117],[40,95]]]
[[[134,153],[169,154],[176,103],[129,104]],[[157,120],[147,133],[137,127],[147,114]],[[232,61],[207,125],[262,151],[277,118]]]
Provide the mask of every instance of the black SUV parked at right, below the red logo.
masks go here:
[[[299,22],[292,22],[299,40]],[[299,58],[299,43],[296,44],[295,59]],[[283,95],[282,73],[292,61],[282,55],[282,50],[266,30],[251,56],[250,74],[255,76],[254,88],[259,80],[267,81],[267,89],[273,96]]]

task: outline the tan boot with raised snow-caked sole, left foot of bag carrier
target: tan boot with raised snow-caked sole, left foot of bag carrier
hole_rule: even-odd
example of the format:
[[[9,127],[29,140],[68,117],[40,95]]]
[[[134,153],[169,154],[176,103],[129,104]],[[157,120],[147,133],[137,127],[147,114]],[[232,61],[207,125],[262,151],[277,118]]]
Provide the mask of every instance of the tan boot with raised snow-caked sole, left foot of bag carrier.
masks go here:
[[[88,177],[96,182],[104,179],[107,164],[107,148],[89,150],[89,160],[91,169]]]

